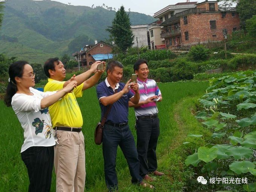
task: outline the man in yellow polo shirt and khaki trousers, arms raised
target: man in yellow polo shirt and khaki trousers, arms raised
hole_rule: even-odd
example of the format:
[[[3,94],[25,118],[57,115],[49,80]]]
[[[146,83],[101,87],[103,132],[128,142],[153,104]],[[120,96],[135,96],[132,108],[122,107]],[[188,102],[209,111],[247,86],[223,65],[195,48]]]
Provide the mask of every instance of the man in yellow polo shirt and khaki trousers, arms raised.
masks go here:
[[[90,70],[78,76],[74,75],[69,81],[63,81],[66,70],[58,58],[50,58],[44,64],[44,72],[49,77],[44,91],[60,90],[70,81],[77,81],[77,87],[72,93],[66,94],[49,107],[52,126],[59,143],[54,149],[57,192],[84,192],[85,151],[84,135],[81,131],[83,119],[76,98],[82,97],[82,91],[99,81],[104,72],[97,70],[100,63],[96,61]],[[92,73],[95,74],[88,79]]]

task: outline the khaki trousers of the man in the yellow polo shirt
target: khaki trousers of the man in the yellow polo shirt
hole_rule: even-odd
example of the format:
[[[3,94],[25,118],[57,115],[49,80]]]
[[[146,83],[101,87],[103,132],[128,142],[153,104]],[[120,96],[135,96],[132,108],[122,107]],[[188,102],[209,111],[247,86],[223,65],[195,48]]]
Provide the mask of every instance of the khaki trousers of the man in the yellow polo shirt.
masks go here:
[[[85,149],[81,132],[56,131],[59,145],[54,147],[56,192],[84,192]]]

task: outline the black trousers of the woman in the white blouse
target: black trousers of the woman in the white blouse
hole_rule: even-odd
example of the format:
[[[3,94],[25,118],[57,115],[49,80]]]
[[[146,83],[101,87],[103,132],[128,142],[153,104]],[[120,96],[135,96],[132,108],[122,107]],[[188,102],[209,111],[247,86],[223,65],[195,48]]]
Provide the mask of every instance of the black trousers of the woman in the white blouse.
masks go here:
[[[33,146],[21,153],[29,175],[29,192],[49,192],[52,181],[54,148]]]

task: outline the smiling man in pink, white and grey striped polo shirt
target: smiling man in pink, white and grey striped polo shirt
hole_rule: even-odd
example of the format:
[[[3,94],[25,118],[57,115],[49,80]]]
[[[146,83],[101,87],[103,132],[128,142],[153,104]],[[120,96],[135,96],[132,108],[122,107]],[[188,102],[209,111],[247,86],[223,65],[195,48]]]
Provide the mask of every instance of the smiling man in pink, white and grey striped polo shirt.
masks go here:
[[[156,82],[148,79],[149,69],[145,59],[139,59],[134,64],[137,74],[140,101],[138,104],[129,102],[129,107],[134,107],[136,115],[137,152],[140,160],[140,176],[146,181],[154,181],[148,174],[164,175],[157,171],[157,140],[160,134],[158,109],[156,102],[162,101],[162,94]]]

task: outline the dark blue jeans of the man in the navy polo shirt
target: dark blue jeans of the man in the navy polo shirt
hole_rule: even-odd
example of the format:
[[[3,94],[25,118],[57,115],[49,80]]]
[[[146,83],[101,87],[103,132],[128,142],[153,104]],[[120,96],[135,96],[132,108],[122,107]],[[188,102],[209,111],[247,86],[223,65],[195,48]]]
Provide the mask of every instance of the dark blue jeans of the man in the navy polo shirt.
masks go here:
[[[118,189],[117,175],[116,175],[116,154],[117,146],[120,146],[123,155],[125,156],[132,183],[140,183],[139,169],[140,162],[136,150],[135,142],[129,126],[119,128],[105,124],[103,129],[102,149],[104,157],[104,172],[105,182],[109,191]]]

